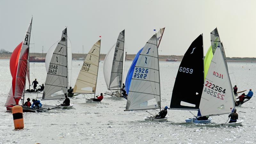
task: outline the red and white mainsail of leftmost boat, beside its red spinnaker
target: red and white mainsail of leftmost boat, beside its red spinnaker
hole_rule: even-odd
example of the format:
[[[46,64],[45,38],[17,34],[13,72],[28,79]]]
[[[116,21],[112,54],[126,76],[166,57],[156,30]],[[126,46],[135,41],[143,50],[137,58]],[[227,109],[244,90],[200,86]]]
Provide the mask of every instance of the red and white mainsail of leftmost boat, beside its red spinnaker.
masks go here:
[[[15,98],[21,98],[24,94],[26,77],[27,77],[28,53],[29,53],[29,42],[30,42],[30,32],[32,27],[32,19],[28,25],[28,30],[25,34],[25,38],[23,40],[21,50],[20,50],[20,57],[18,62],[15,92],[14,92]]]

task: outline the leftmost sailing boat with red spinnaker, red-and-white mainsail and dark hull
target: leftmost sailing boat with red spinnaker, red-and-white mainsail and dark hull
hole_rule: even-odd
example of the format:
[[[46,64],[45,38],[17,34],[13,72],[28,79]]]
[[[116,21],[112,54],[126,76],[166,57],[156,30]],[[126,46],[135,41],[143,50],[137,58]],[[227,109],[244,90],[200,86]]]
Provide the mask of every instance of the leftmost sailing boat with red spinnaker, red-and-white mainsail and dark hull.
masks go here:
[[[33,18],[32,18],[33,19]],[[12,52],[10,58],[10,71],[12,75],[12,86],[8,94],[7,100],[4,104],[7,111],[12,111],[12,107],[19,105],[19,101],[22,102],[23,112],[41,112],[43,110],[38,108],[29,108],[23,106],[25,98],[25,85],[26,78],[28,75],[29,81],[29,42],[30,42],[30,32],[32,27],[32,19],[28,25],[28,30],[25,34],[23,42],[21,42]]]

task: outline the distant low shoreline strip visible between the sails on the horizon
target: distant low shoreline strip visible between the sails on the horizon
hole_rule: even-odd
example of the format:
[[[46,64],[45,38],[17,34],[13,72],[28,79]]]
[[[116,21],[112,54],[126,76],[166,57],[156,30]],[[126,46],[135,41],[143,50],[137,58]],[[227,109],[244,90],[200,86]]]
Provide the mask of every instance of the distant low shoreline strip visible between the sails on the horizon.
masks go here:
[[[0,59],[10,59],[12,53],[0,53]],[[87,54],[82,53],[72,53],[72,59],[78,60],[79,58],[85,58]],[[46,53],[29,53],[29,56],[35,56],[39,59],[45,59]],[[105,59],[106,54],[100,54],[100,60]],[[126,60],[133,60],[135,57],[135,54],[127,54]],[[167,59],[171,60],[177,60],[181,61],[183,58],[183,55],[177,56],[177,55],[159,55],[160,61],[165,61]],[[227,57],[228,62],[256,62],[256,58],[239,58],[239,57]],[[175,62],[175,61],[169,61],[169,62]]]

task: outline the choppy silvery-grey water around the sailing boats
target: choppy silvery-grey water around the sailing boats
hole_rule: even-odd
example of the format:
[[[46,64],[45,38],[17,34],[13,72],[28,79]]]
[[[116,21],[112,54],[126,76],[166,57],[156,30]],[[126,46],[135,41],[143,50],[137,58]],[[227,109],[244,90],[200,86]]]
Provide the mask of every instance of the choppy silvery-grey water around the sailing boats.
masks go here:
[[[83,61],[73,61],[72,85],[74,86]],[[129,69],[132,61],[125,63]],[[180,62],[160,62],[162,107],[170,105],[172,89]],[[30,63],[31,80],[44,83],[44,63]],[[12,114],[6,112],[4,103],[11,86],[9,60],[0,60],[0,143],[256,143],[255,89],[256,63],[228,62],[231,82],[238,91],[252,88],[253,98],[237,107],[243,126],[221,127],[228,115],[213,116],[211,124],[185,123],[192,117],[189,111],[168,110],[168,122],[145,122],[145,111],[126,111],[125,99],[105,96],[100,104],[85,103],[79,95],[70,99],[74,109],[51,110],[45,113],[24,113],[24,129],[14,130]],[[126,70],[127,72],[128,70]],[[103,61],[100,62],[96,93],[107,91],[103,76]],[[184,91],[185,93],[186,91]],[[25,98],[36,98],[26,94]],[[38,94],[42,97],[42,93]],[[57,100],[41,101],[43,104],[58,104]],[[150,111],[154,113],[154,111]],[[196,111],[192,111],[196,114]]]

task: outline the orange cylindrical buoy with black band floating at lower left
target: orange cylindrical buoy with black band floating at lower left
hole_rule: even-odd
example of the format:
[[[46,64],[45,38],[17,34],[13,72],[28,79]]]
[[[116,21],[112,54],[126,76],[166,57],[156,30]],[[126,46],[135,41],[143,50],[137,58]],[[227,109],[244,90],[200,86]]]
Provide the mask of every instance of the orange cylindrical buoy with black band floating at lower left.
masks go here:
[[[24,121],[23,121],[22,107],[21,106],[12,107],[12,116],[13,116],[13,123],[14,123],[15,129],[23,129]]]

